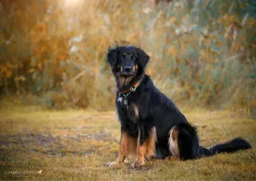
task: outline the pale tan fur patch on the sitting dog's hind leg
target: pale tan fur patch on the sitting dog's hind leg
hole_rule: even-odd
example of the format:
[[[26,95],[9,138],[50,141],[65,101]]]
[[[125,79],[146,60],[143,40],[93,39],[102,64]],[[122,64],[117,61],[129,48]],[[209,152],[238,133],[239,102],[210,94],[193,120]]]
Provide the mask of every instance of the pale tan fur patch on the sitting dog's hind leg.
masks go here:
[[[180,157],[180,150],[178,145],[179,131],[173,127],[169,132],[169,150],[172,153],[173,157]]]

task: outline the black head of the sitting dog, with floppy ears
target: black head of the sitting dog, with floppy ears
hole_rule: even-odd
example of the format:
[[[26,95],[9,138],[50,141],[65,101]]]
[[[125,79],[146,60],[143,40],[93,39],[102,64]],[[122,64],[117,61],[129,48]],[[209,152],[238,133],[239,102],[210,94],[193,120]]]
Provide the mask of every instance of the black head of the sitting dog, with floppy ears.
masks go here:
[[[108,61],[115,75],[128,78],[136,75],[138,71],[144,73],[149,56],[137,47],[116,47],[109,48]]]

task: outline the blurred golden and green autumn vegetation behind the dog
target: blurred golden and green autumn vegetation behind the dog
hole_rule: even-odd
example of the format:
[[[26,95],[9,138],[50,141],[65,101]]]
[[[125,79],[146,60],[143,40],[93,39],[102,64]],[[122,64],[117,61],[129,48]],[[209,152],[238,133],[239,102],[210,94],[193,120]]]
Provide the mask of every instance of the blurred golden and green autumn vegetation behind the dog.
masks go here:
[[[152,4],[154,6],[152,6]],[[0,1],[0,93],[47,108],[114,108],[109,45],[136,45],[179,106],[255,115],[255,1]]]

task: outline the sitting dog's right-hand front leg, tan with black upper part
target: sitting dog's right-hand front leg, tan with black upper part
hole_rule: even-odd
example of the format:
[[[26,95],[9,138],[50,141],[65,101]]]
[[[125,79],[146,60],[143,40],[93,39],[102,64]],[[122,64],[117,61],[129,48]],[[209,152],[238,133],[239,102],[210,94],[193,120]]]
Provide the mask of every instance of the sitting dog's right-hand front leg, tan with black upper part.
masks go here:
[[[139,168],[141,165],[145,164],[145,159],[147,157],[152,157],[155,155],[157,139],[156,127],[151,127],[150,129],[145,128],[146,127],[144,126],[140,127],[137,157],[134,163],[131,164],[131,168]]]

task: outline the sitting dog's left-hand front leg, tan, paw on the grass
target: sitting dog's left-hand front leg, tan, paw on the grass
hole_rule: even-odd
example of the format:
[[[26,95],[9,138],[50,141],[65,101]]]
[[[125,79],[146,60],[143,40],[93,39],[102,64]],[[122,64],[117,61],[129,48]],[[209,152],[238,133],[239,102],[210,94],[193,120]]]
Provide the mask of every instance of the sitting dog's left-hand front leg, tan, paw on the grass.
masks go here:
[[[116,161],[108,163],[107,166],[115,166],[117,164],[124,163],[125,158],[127,158],[129,154],[136,152],[137,140],[138,138],[132,137],[126,132],[122,133],[118,158]]]

